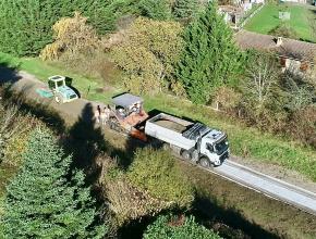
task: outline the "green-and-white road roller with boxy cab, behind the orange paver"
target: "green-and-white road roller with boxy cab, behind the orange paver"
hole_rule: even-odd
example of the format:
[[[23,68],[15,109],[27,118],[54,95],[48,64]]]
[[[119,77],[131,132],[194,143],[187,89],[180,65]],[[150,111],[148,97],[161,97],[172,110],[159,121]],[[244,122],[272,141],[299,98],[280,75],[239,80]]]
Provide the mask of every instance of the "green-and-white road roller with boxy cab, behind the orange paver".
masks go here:
[[[51,76],[48,78],[47,89],[36,89],[37,93],[44,98],[54,98],[57,103],[66,103],[78,99],[76,92],[66,86],[64,76]]]

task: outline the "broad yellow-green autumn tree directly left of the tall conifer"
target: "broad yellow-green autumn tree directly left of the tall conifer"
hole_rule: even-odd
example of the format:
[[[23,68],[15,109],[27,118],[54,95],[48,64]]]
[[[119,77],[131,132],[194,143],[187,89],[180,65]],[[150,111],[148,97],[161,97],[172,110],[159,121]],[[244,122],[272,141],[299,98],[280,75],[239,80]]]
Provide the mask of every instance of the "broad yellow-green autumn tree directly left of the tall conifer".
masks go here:
[[[182,27],[175,22],[138,17],[124,40],[113,47],[112,60],[126,75],[124,85],[136,92],[157,92],[173,74],[182,47]]]

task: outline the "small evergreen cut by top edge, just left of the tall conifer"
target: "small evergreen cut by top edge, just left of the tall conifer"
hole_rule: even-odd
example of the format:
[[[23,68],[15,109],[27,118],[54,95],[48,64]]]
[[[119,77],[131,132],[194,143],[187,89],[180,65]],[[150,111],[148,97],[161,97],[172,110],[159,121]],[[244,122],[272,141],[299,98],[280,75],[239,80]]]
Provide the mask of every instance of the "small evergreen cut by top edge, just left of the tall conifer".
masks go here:
[[[173,15],[177,18],[190,18],[197,14],[197,0],[175,0]]]

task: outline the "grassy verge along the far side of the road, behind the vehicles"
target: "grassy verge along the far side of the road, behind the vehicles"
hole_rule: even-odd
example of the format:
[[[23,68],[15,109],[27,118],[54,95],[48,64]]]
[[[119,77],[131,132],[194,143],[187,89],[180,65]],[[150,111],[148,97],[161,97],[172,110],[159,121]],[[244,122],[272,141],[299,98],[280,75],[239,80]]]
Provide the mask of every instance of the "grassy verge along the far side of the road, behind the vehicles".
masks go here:
[[[73,74],[61,65],[48,64],[38,59],[14,59],[0,53],[0,64],[1,62],[7,62],[9,65],[19,65],[21,70],[36,75],[41,80],[46,80],[48,76],[56,74],[72,77],[73,86],[82,92],[83,97],[89,100],[108,103],[113,95],[123,91],[122,89],[113,89],[99,92],[97,89],[102,87],[100,79]],[[88,88],[90,89],[89,93],[87,93]],[[311,148],[303,147],[301,143],[284,137],[246,127],[226,115],[206,106],[194,105],[186,100],[163,93],[155,97],[144,96],[144,98],[145,108],[148,111],[161,110],[174,115],[191,117],[224,130],[229,135],[231,151],[234,155],[281,165],[300,172],[316,181],[316,151]]]

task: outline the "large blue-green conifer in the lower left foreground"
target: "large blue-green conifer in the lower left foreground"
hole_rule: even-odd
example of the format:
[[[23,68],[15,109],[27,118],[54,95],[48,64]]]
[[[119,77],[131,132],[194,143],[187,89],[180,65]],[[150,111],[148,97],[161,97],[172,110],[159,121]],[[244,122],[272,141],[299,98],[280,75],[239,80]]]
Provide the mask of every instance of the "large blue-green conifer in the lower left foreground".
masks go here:
[[[72,159],[51,133],[35,130],[23,159],[0,221],[5,238],[102,238],[84,175],[70,172]]]

